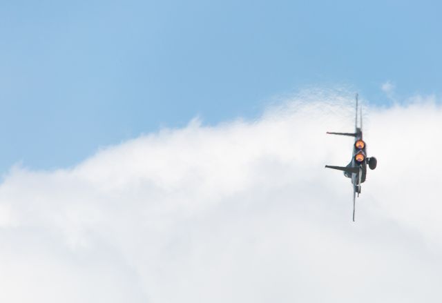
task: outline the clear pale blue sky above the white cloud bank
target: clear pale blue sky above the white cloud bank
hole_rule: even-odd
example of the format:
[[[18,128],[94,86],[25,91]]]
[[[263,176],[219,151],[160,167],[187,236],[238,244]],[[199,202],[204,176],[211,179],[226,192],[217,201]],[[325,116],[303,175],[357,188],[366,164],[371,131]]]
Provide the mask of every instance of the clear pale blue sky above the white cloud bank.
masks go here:
[[[434,1],[2,1],[0,170],[73,166],[161,127],[256,117],[280,94],[440,95]]]

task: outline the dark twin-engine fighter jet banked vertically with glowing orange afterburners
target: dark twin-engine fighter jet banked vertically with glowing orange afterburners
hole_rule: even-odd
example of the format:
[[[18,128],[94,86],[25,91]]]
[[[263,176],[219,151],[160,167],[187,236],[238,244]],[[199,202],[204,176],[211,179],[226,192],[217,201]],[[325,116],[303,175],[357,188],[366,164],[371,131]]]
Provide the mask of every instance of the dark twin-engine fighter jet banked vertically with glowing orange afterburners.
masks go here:
[[[367,164],[370,169],[376,168],[378,161],[375,157],[367,157],[367,146],[362,139],[362,108],[359,110],[361,126],[358,126],[358,94],[356,94],[356,123],[354,133],[332,133],[330,135],[343,135],[354,137],[352,161],[347,166],[331,166],[326,165],[325,168],[343,170],[345,177],[352,179],[353,185],[353,222],[354,209],[356,203],[356,193],[361,193],[361,184],[365,182],[367,175]]]

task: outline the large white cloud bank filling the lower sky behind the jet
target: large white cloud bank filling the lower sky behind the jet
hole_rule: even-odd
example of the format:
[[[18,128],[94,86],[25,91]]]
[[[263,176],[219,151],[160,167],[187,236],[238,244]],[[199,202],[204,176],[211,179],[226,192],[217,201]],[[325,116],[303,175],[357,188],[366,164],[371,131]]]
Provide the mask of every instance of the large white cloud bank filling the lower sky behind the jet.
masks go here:
[[[309,97],[306,97],[309,96]],[[0,186],[1,302],[440,302],[442,108],[367,108],[351,222],[352,96],[194,121]]]

